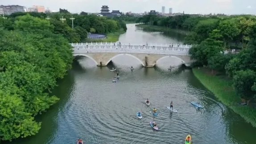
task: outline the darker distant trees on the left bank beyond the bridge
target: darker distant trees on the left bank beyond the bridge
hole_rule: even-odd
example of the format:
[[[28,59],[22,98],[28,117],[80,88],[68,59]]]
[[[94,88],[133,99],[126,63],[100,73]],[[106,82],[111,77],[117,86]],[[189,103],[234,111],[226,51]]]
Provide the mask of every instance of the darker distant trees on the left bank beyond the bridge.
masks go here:
[[[54,25],[54,33],[62,34],[63,37],[73,43],[87,41],[87,33],[115,33],[119,31],[126,31],[126,25],[119,17],[107,18],[105,16],[87,15],[85,12],[81,14],[71,14],[66,9],[60,9],[60,12],[56,13],[38,13],[38,12],[15,12],[8,17],[12,21],[17,16],[25,16],[29,13],[31,16],[41,19],[50,18],[50,24]],[[66,21],[62,23],[61,18],[65,18]],[[74,19],[74,29],[72,29],[72,21]],[[9,26],[9,30],[13,29]]]

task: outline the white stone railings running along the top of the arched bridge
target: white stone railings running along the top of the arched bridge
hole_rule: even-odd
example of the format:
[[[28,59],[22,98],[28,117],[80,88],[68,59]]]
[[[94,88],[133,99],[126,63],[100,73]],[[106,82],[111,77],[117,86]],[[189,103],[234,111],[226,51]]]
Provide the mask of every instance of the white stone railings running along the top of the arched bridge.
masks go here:
[[[80,45],[71,44],[75,53],[148,53],[166,55],[189,55],[190,45],[179,47],[135,46],[135,45]]]

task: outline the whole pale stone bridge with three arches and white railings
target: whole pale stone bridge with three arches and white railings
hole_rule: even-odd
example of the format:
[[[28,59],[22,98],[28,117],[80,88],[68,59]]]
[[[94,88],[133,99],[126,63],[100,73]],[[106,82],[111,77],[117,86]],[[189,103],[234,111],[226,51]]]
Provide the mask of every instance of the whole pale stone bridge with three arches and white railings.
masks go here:
[[[172,57],[181,63],[190,64],[188,54],[191,45],[116,45],[115,43],[77,43],[73,46],[73,56],[91,58],[97,66],[107,66],[114,58],[120,55],[131,56],[140,61],[142,66],[153,67],[157,61]]]

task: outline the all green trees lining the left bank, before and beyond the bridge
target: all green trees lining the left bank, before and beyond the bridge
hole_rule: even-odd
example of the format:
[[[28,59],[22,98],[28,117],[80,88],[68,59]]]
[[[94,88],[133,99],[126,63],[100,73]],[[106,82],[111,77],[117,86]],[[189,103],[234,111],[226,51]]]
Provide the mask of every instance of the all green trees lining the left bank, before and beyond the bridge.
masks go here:
[[[87,32],[127,29],[118,18],[60,11],[16,12],[7,19],[0,16],[0,140],[39,131],[41,123],[34,116],[58,101],[49,95],[50,89],[71,68],[73,51],[69,43],[87,41]],[[62,16],[66,18],[63,23]]]

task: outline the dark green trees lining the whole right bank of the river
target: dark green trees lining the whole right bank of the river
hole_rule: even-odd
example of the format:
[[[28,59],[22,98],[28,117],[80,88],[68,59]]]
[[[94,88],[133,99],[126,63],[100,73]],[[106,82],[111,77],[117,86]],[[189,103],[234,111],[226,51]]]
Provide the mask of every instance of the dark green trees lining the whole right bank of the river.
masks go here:
[[[186,37],[191,58],[197,66],[225,72],[233,79],[237,94],[248,100],[256,95],[256,17],[241,16],[156,16],[137,17],[145,25],[190,31]],[[223,51],[239,49],[224,54]]]

